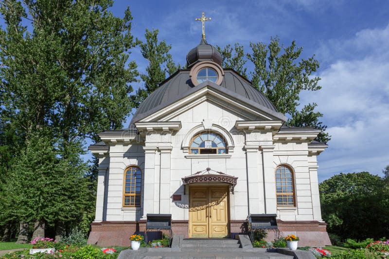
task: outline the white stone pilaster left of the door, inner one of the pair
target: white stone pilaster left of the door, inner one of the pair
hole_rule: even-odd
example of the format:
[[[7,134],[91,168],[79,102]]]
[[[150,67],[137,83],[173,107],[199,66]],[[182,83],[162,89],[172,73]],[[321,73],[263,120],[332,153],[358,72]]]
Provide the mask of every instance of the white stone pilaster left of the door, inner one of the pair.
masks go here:
[[[160,150],[160,207],[159,213],[170,214],[170,162],[173,146],[159,146]]]

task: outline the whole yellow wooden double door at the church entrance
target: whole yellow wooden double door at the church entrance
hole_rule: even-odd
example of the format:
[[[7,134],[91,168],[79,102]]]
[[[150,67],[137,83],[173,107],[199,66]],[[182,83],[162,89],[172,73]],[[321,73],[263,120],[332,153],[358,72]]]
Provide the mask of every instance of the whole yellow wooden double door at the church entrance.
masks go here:
[[[228,187],[191,187],[189,237],[229,237],[228,190]]]

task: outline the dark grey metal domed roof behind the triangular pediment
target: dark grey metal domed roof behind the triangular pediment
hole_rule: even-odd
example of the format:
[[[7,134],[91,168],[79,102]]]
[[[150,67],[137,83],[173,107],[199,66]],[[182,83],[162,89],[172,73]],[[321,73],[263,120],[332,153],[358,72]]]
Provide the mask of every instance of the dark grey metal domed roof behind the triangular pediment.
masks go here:
[[[173,102],[184,98],[197,89],[201,88],[204,83],[194,86],[190,77],[190,69],[178,70],[167,80],[163,81],[159,88],[151,93],[139,106],[134,117],[130,122],[130,127],[135,122],[147,117],[148,115],[157,112],[158,110],[172,104]],[[249,103],[256,108],[265,111],[279,119],[286,120],[286,117],[277,112],[274,105],[261,92],[251,86],[251,82],[240,76],[233,69],[225,69],[222,83],[216,85],[210,81],[207,85],[220,88],[225,93],[229,93],[234,97]]]

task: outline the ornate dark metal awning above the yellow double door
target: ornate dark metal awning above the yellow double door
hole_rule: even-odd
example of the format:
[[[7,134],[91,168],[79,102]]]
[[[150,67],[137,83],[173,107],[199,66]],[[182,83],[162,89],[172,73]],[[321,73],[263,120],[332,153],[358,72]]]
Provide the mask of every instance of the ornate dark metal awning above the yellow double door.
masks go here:
[[[214,172],[211,173],[210,171]],[[216,173],[216,174],[215,174]],[[234,193],[234,187],[237,183],[238,178],[230,175],[226,175],[222,172],[217,172],[207,168],[203,171],[198,171],[193,175],[181,178],[183,185],[198,183],[198,182],[223,182],[231,185],[230,191]]]

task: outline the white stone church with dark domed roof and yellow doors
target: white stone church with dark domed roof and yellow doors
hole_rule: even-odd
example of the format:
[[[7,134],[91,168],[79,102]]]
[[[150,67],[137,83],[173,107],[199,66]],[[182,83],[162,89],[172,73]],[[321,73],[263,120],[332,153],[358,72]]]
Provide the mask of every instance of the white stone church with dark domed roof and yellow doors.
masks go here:
[[[250,214],[276,214],[281,236],[330,244],[320,212],[320,130],[286,117],[251,82],[220,66],[203,37],[141,103],[128,129],[99,134],[96,216],[88,243],[129,245],[147,214],[171,214],[173,235],[234,238]]]

